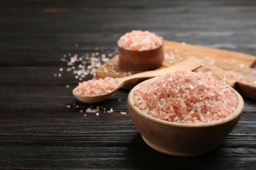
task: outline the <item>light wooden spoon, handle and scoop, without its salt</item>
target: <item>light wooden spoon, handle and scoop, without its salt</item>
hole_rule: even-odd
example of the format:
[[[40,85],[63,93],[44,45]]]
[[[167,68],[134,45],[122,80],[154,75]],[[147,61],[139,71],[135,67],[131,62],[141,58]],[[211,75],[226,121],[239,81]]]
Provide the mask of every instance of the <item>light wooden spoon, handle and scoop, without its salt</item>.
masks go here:
[[[154,71],[146,71],[142,73],[137,73],[131,76],[125,76],[121,78],[114,78],[118,82],[118,86],[115,90],[113,90],[110,93],[105,93],[103,95],[96,95],[96,96],[84,96],[84,95],[76,95],[75,89],[73,90],[73,95],[76,97],[79,101],[82,101],[83,103],[97,103],[100,101],[104,101],[108,99],[108,97],[111,97],[114,95],[114,93],[123,86],[126,82],[129,82],[131,80],[138,80],[138,79],[146,79],[146,78],[153,78],[155,76],[164,75],[166,73],[169,73],[171,71],[177,71],[177,70],[191,70],[198,69],[201,67],[200,60],[197,58],[188,58],[181,63],[178,63],[177,65],[173,65],[171,67],[167,67],[165,69],[158,69]]]

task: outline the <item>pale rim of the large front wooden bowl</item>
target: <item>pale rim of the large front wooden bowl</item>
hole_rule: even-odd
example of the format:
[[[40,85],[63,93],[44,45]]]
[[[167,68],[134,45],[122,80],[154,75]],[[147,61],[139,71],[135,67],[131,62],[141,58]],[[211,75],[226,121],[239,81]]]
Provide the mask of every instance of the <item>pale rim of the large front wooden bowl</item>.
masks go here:
[[[140,116],[143,116],[144,118],[147,118],[147,119],[149,119],[153,122],[157,122],[158,124],[165,124],[166,126],[177,126],[177,127],[217,126],[217,125],[220,125],[220,124],[226,124],[226,123],[230,122],[231,120],[234,120],[234,119],[240,117],[242,115],[243,110],[244,110],[244,99],[242,98],[240,93],[238,93],[236,90],[234,90],[234,88],[232,88],[231,86],[225,85],[226,87],[230,88],[236,94],[236,98],[238,99],[238,105],[236,106],[236,109],[234,110],[234,112],[232,112],[231,114],[226,116],[226,118],[223,118],[221,120],[215,120],[215,121],[212,121],[212,122],[198,123],[198,124],[186,124],[186,123],[169,122],[167,120],[161,120],[160,118],[155,118],[153,116],[150,116],[150,115],[142,112],[142,110],[140,110],[138,107],[136,107],[134,105],[134,102],[133,102],[133,92],[136,90],[137,86],[139,86],[140,84],[142,84],[146,81],[149,81],[151,79],[153,79],[153,78],[150,78],[148,80],[144,80],[143,82],[140,82],[135,87],[133,87],[133,89],[129,92],[127,102],[130,103],[130,105],[131,105],[131,107],[133,107],[133,109],[135,109],[136,114],[139,114]]]

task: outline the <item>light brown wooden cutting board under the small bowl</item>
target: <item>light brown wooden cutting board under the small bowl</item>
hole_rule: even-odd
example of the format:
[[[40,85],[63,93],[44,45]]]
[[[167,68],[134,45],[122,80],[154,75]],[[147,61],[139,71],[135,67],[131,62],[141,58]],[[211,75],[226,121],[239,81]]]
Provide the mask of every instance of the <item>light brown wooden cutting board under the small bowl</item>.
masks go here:
[[[165,59],[158,69],[175,65],[190,57],[196,57],[202,62],[202,67],[195,71],[202,71],[216,80],[236,88],[244,97],[256,99],[256,68],[251,68],[256,63],[256,56],[173,41],[164,42],[163,52]],[[140,72],[142,71],[121,67],[119,56],[116,55],[98,67],[96,78],[106,76],[116,78]],[[131,90],[141,81],[129,82],[123,88]]]

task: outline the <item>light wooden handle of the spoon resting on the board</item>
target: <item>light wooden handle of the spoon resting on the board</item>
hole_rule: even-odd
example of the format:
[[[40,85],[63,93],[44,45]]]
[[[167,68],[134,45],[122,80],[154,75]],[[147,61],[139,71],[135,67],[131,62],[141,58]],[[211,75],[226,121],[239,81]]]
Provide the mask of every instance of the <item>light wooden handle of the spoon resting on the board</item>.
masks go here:
[[[181,63],[177,63],[177,65],[173,65],[171,67],[167,67],[165,69],[158,69],[154,71],[145,71],[142,73],[137,73],[131,76],[125,76],[121,78],[115,78],[120,86],[125,84],[125,82],[129,80],[135,80],[135,79],[141,79],[141,78],[153,78],[155,76],[165,75],[166,73],[169,73],[171,71],[177,71],[177,70],[191,70],[197,69],[201,67],[202,64],[200,63],[200,60],[195,57],[188,58]]]

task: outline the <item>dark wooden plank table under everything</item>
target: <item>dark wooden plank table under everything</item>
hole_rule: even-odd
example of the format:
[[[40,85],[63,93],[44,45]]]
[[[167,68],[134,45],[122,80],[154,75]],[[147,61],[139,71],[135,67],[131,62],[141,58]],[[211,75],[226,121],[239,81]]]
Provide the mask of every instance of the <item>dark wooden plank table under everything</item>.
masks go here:
[[[75,68],[67,63],[75,54],[104,63],[117,54],[117,39],[133,29],[256,56],[256,1],[0,4],[0,169],[256,169],[255,100],[244,98],[240,122],[209,154],[167,156],[142,140],[127,90],[101,103],[80,103],[72,96],[81,82],[73,73],[79,61]],[[85,112],[97,107],[98,115]]]

